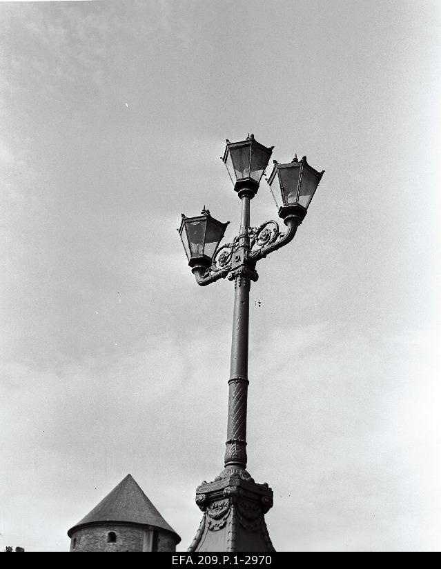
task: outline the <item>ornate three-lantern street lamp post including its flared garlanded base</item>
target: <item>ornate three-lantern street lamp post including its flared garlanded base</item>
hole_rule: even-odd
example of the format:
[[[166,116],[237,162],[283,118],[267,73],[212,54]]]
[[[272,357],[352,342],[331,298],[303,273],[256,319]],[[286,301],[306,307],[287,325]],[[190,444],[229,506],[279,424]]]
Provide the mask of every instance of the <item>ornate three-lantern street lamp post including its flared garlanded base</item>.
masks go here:
[[[228,426],[224,470],[212,482],[202,482],[196,503],[203,517],[189,551],[273,551],[264,515],[273,506],[273,491],[258,484],[246,470],[246,405],[248,396],[248,321],[251,281],[257,281],[257,261],[291,241],[302,223],[323,172],[311,168],[306,157],[291,163],[274,161],[268,179],[271,192],[282,201],[278,210],[286,231],[276,221],[250,226],[250,201],[257,194],[273,148],[253,134],[239,142],[226,141],[222,160],[242,201],[239,233],[219,246],[227,223],[201,215],[182,214],[179,234],[188,265],[200,286],[228,277],[235,283],[231,368],[228,380]],[[278,205],[278,203],[277,203]]]

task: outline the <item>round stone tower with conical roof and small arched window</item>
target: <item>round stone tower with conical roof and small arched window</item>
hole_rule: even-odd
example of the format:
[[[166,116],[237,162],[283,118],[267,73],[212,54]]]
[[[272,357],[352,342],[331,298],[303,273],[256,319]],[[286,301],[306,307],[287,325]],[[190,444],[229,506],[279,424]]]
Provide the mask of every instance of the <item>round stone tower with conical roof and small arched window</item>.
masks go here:
[[[175,551],[181,541],[131,475],[68,536],[70,551]]]

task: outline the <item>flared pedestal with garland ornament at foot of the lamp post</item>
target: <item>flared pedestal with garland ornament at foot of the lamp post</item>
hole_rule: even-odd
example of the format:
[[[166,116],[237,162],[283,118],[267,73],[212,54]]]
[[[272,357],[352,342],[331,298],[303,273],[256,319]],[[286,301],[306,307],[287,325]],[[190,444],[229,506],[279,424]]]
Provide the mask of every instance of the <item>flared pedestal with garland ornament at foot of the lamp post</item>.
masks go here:
[[[196,503],[204,517],[188,551],[275,551],[264,519],[273,490],[246,470],[226,468],[215,481],[203,482]]]

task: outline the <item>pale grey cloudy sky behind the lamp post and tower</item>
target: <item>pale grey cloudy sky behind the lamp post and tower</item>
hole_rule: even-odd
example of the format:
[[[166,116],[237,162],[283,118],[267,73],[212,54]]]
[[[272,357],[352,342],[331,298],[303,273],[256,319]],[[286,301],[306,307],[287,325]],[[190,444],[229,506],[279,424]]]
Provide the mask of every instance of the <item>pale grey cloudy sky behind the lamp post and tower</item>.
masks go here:
[[[0,3],[0,549],[67,551],[128,472],[182,537],[223,468],[248,132],[326,170],[251,289],[248,470],[276,550],[439,550],[438,0]],[[262,182],[251,223],[277,211]],[[437,295],[438,296],[438,295]],[[260,301],[260,306],[255,301]]]

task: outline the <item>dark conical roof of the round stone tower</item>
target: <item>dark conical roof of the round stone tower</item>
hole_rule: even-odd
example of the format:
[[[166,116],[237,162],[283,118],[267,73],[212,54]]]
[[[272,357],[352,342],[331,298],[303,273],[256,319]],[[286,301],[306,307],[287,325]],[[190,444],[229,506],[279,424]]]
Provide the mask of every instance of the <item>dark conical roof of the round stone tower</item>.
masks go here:
[[[99,523],[108,521],[155,526],[175,534],[177,543],[181,541],[179,535],[159,514],[153,503],[146,497],[130,474],[121,480],[87,516],[70,528],[68,536],[70,537],[72,532],[79,526],[87,526],[89,524],[96,526]]]

